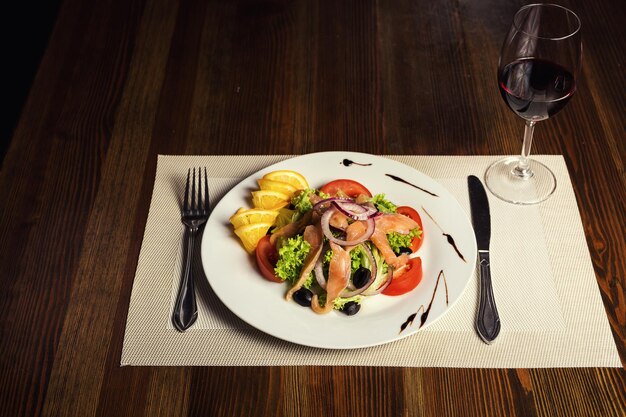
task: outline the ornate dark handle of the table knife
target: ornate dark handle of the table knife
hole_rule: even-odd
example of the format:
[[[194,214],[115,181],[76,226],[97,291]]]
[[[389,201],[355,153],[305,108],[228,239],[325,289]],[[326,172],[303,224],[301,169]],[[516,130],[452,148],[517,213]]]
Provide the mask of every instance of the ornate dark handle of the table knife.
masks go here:
[[[491,287],[491,268],[489,267],[489,252],[479,251],[480,259],[480,304],[476,316],[476,330],[481,339],[487,344],[493,342],[500,333],[500,316],[496,308],[496,300]]]

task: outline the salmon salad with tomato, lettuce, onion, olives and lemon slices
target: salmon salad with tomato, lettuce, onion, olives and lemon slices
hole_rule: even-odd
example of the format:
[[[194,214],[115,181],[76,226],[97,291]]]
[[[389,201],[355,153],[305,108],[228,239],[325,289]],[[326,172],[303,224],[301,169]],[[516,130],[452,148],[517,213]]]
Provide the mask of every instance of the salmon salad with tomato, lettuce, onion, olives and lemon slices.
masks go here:
[[[363,184],[309,187],[295,171],[257,180],[253,208],[230,218],[261,276],[287,283],[285,298],[318,314],[354,315],[373,296],[400,296],[422,279],[422,220]]]

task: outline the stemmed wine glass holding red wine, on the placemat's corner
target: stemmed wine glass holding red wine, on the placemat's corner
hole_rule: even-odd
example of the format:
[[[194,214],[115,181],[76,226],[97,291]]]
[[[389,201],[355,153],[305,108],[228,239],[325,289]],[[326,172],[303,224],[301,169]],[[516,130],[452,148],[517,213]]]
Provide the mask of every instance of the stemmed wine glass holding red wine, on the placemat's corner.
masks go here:
[[[556,188],[554,174],[529,158],[535,124],[560,111],[576,91],[582,59],[580,19],[555,4],[522,7],[502,45],[498,85],[504,102],[526,120],[520,156],[491,165],[489,190],[515,204],[544,201]]]

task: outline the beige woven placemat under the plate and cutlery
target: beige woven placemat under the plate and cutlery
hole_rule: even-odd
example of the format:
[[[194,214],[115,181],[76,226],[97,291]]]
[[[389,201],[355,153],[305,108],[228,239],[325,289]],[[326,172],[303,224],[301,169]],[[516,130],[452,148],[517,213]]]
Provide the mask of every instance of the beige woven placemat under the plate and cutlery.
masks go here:
[[[180,199],[188,167],[207,166],[211,204],[241,179],[288,156],[159,156],[130,300],[122,365],[356,365],[470,368],[621,367],[565,162],[536,156],[557,177],[555,194],[535,206],[489,196],[492,274],[502,332],[485,345],[474,332],[475,273],[442,319],[389,344],[352,350],[299,346],[268,336],[232,314],[195,260],[199,317],[186,333],[171,324],[182,265]],[[389,156],[444,185],[469,213],[467,176],[493,156]]]

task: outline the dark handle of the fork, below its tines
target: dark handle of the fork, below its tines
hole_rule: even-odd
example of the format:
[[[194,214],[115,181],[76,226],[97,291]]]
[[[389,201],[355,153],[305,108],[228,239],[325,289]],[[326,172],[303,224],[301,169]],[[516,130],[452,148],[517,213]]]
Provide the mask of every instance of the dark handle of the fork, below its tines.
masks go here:
[[[181,332],[190,328],[198,318],[198,305],[196,303],[196,288],[193,277],[193,249],[198,228],[187,228],[187,252],[185,255],[185,270],[183,279],[178,289],[176,306],[174,307],[174,326]]]

